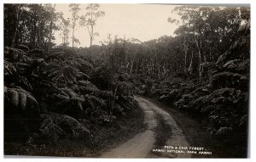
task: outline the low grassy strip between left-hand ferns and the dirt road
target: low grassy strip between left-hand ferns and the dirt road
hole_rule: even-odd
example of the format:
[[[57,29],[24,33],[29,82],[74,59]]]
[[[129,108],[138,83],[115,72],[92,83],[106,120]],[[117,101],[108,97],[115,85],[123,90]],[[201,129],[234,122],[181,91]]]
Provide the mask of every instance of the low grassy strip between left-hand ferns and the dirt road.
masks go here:
[[[137,106],[113,123],[95,125],[92,130],[93,137],[89,139],[65,139],[48,144],[5,142],[4,154],[95,158],[99,157],[103,151],[114,148],[143,130],[143,110]]]

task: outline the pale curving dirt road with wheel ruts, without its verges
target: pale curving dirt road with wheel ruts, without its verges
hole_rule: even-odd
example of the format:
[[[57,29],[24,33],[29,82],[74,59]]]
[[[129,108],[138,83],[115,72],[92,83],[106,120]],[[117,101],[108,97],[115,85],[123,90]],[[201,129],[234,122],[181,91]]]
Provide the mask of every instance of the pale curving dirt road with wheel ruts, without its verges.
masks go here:
[[[182,130],[177,126],[177,122],[173,120],[165,110],[160,109],[154,103],[147,99],[135,97],[137,103],[144,111],[144,124],[147,125],[146,131],[137,134],[129,141],[119,145],[117,148],[113,148],[106,153],[102,154],[102,158],[190,158],[190,154],[179,154],[162,152],[164,146],[182,146],[189,147],[189,142],[183,135]],[[157,132],[157,128],[160,126],[160,120],[162,124],[166,125],[168,130],[162,130],[164,132]],[[162,133],[168,137],[162,143],[161,146],[156,146],[158,142],[158,135]],[[155,150],[158,149],[157,154]]]

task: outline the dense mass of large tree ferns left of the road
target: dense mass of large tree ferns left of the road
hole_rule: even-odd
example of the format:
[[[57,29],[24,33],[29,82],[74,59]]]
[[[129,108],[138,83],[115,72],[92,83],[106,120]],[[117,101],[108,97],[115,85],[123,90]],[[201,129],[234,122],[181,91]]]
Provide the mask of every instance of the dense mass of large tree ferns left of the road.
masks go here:
[[[137,109],[126,80],[67,47],[4,47],[4,142],[95,141],[96,129]]]

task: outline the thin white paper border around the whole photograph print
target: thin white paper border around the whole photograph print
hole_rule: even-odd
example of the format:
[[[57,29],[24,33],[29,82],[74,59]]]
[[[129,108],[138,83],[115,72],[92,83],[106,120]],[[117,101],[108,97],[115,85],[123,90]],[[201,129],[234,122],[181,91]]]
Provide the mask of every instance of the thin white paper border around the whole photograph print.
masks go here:
[[[254,9],[255,9],[255,1],[253,0],[214,0],[214,1],[209,1],[209,0],[123,0],[123,1],[103,1],[103,0],[94,0],[94,1],[83,1],[83,0],[74,0],[74,1],[67,1],[67,0],[55,0],[54,2],[51,0],[40,0],[40,1],[33,1],[33,0],[23,0],[23,1],[20,1],[20,0],[13,0],[13,1],[8,1],[8,0],[3,0],[2,1],[3,3],[172,3],[172,4],[184,4],[184,3],[196,3],[196,4],[203,4],[203,3],[221,3],[221,4],[234,4],[234,3],[251,3],[251,23],[252,23],[252,31],[251,31],[251,37],[252,37],[252,46],[251,46],[251,101],[250,101],[250,106],[251,106],[251,109],[250,109],[250,116],[251,116],[251,132],[250,132],[250,135],[251,135],[251,158],[250,159],[121,159],[121,160],[124,160],[124,161],[144,161],[144,160],[147,160],[147,161],[151,161],[151,160],[157,160],[157,161],[169,161],[169,160],[174,160],[174,161],[198,161],[198,160],[202,160],[202,161],[205,161],[205,160],[210,160],[210,161],[230,161],[230,162],[233,162],[233,161],[240,161],[240,160],[245,160],[245,161],[255,161],[255,140],[253,139],[253,135],[255,135],[255,118],[254,118],[254,115],[255,115],[255,108],[256,108],[256,104],[255,104],[255,99],[256,98],[256,91],[255,91],[255,86],[253,83],[256,83],[256,80],[255,80],[255,70],[256,70],[256,64],[253,64],[255,63],[255,46],[253,46],[253,43],[255,43],[255,32],[253,31],[253,26],[255,24],[255,19],[254,19],[254,16],[255,16],[255,12],[254,12]],[[1,8],[1,12],[0,12],[0,16],[2,18],[2,23],[0,23],[0,27],[1,27],[1,31],[0,31],[0,35],[1,35],[1,42],[2,42],[2,46],[0,46],[1,48],[1,57],[0,57],[0,61],[1,61],[1,66],[0,66],[0,76],[1,76],[1,83],[3,85],[3,3],[1,3],[0,5],[0,8]],[[3,159],[3,87],[2,87],[2,91],[0,92],[0,101],[1,101],[1,106],[2,106],[2,112],[0,113],[1,115],[1,127],[0,127],[0,134],[1,134],[1,146],[0,146],[0,154],[1,154],[1,161],[13,161],[13,160],[19,160],[20,162],[26,162],[26,161],[45,161],[45,160],[53,160],[53,159],[48,159],[48,157],[44,157],[43,159],[41,159],[42,157],[40,157],[40,159]],[[46,158],[46,159],[45,159]],[[115,162],[115,161],[119,161],[120,159],[55,159],[57,161],[70,161],[70,160],[96,160],[96,161],[111,161],[111,162]]]

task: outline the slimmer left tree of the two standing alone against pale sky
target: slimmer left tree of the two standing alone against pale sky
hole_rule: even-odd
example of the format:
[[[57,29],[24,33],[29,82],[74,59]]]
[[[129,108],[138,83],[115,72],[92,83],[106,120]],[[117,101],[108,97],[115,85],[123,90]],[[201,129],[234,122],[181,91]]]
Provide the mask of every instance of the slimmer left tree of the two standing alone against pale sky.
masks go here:
[[[79,8],[80,4],[75,4],[75,3],[71,3],[69,4],[69,8],[70,8],[70,12],[72,12],[72,19],[71,19],[71,22],[72,22],[72,47],[74,47],[74,42],[78,42],[78,39],[75,38],[74,36],[74,31],[75,31],[75,28],[76,28],[76,25],[77,25],[77,21],[79,20]]]

